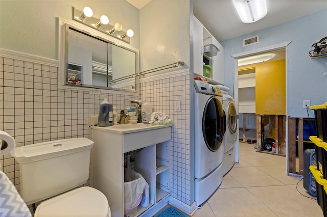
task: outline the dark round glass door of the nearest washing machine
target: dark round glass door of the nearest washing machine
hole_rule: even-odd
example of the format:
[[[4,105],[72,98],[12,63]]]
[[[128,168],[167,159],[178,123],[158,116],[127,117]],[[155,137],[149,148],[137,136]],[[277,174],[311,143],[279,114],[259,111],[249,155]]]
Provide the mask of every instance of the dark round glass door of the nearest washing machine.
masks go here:
[[[215,96],[209,98],[204,107],[202,132],[208,149],[217,151],[223,141],[225,126],[223,106]]]

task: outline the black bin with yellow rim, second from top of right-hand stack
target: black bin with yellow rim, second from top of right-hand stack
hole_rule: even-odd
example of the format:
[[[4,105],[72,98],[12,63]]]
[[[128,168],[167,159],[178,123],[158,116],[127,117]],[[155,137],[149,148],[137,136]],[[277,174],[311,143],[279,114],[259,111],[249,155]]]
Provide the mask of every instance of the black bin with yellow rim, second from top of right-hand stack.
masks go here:
[[[310,140],[315,144],[317,169],[327,179],[327,143],[315,136],[311,136]]]

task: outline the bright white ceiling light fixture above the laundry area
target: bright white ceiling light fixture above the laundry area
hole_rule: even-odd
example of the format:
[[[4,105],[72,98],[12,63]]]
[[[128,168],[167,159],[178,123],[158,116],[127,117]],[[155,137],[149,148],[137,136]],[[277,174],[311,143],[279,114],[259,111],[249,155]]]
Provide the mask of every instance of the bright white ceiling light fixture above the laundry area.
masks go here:
[[[244,23],[256,22],[267,14],[266,0],[233,0],[233,3]]]

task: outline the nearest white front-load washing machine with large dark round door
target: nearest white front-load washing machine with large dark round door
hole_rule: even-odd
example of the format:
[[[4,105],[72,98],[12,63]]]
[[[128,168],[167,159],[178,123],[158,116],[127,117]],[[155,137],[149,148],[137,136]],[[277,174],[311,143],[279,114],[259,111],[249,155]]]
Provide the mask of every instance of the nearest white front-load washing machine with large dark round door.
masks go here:
[[[225,133],[222,94],[218,87],[194,80],[195,202],[199,206],[222,181]]]

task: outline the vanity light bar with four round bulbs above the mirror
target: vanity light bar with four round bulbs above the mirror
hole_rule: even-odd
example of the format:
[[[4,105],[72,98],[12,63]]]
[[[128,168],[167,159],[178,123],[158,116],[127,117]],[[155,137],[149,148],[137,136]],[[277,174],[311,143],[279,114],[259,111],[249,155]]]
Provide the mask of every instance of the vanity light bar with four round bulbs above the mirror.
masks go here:
[[[127,43],[130,43],[130,38],[134,35],[132,30],[122,31],[123,25],[119,22],[114,25],[109,24],[109,18],[106,15],[102,15],[100,19],[94,17],[93,11],[89,7],[85,7],[83,10],[74,8],[74,20]]]

